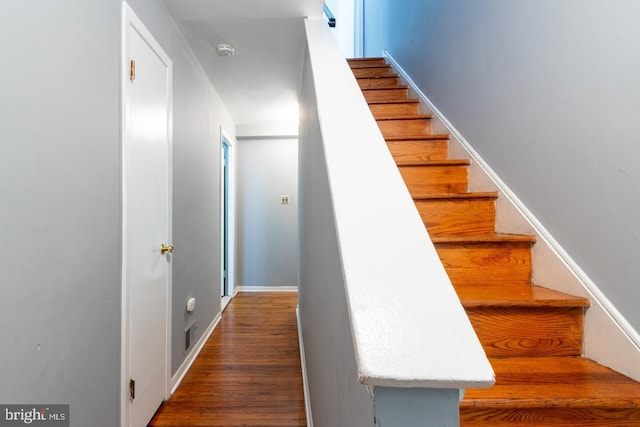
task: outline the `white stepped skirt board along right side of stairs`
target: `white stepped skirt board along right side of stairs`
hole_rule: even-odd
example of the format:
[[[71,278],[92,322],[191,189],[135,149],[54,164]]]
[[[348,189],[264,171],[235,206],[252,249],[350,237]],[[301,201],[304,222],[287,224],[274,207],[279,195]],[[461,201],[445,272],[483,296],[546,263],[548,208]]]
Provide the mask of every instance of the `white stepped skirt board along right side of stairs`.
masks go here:
[[[415,96],[420,99],[421,106],[427,110],[425,112],[431,112],[434,115],[436,122],[434,123],[434,132],[449,133],[451,142],[459,146],[458,152],[463,151],[473,160],[472,168],[475,169],[470,170],[469,174],[473,179],[477,178],[480,181],[478,187],[474,187],[473,190],[497,189],[501,193],[498,199],[499,210],[506,212],[506,214],[503,214],[502,218],[497,218],[498,230],[502,231],[500,227],[504,227],[511,232],[536,235],[538,241],[534,246],[535,283],[590,299],[591,307],[585,316],[585,356],[640,381],[640,334],[525,204],[480,157],[462,134],[420,90],[389,52],[385,51],[384,56],[398,72],[403,82],[409,85]]]

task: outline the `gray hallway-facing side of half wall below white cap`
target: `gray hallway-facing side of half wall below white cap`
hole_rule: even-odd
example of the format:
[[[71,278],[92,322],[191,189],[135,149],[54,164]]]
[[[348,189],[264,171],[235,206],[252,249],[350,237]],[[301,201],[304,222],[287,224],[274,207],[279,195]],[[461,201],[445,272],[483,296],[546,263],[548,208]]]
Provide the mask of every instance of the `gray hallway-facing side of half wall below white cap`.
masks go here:
[[[301,94],[298,303],[313,425],[373,426],[373,396],[358,382],[308,55]]]

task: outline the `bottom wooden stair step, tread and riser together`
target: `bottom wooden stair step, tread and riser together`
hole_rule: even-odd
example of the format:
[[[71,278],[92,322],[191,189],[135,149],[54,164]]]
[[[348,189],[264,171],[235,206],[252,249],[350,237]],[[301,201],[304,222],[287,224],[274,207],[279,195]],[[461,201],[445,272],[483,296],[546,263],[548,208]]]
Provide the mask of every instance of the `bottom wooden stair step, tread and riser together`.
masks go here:
[[[589,359],[490,361],[496,384],[466,391],[462,427],[640,426],[640,384]]]

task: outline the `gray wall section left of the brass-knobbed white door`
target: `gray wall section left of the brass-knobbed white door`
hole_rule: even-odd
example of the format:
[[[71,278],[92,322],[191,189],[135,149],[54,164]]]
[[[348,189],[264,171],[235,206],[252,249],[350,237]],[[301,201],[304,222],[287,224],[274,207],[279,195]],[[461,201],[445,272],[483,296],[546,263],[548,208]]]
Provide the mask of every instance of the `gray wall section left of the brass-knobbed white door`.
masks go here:
[[[2,1],[0,52],[0,402],[113,427],[120,1]]]

